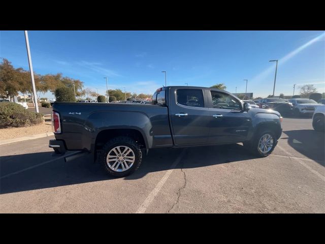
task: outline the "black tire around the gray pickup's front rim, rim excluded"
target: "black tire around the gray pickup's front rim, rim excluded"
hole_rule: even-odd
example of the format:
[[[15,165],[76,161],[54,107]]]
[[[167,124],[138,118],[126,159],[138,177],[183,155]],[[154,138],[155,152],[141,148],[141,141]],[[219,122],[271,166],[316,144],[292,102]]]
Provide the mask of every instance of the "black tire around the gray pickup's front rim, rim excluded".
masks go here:
[[[258,142],[259,142],[259,139],[261,139],[262,136],[266,135],[266,134],[271,135],[271,137],[273,138],[273,145],[272,145],[271,150],[269,150],[267,153],[262,153],[262,151],[260,151],[258,149]],[[257,156],[260,158],[269,156],[272,153],[272,151],[274,150],[276,144],[277,144],[276,136],[275,136],[274,132],[269,131],[269,130],[264,130],[264,131],[258,132],[250,141],[243,142],[243,145],[247,150],[249,150],[254,156]]]

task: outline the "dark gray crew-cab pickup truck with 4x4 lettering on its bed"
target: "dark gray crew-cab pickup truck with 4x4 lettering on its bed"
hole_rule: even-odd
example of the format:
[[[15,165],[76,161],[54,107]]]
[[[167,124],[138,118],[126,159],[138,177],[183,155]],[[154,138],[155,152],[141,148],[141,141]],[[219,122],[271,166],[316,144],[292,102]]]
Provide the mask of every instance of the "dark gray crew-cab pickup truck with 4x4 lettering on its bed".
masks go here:
[[[281,136],[282,117],[273,110],[249,108],[224,90],[166,86],[152,104],[53,104],[54,155],[93,154],[113,176],[139,168],[150,148],[188,147],[242,142],[257,157],[271,154]]]

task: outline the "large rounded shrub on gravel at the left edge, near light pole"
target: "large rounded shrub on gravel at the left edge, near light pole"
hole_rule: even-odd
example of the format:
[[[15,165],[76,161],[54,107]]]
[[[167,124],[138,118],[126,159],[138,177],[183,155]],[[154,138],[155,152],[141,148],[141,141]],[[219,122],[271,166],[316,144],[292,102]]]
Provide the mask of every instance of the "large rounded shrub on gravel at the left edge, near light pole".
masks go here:
[[[0,128],[34,126],[43,122],[43,114],[17,103],[0,103]]]

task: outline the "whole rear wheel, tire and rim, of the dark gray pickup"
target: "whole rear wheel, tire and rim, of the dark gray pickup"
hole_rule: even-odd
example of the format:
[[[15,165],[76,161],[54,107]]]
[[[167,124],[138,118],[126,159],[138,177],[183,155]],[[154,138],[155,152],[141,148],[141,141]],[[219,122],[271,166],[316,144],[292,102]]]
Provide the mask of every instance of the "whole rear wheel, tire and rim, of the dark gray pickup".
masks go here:
[[[99,157],[105,171],[114,177],[132,174],[142,161],[141,149],[137,142],[125,136],[109,140]]]

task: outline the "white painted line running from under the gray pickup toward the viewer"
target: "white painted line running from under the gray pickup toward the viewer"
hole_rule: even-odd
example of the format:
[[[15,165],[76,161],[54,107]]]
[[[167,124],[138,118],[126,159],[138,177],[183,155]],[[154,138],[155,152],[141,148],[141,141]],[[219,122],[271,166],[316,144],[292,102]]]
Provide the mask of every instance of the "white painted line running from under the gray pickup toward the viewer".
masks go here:
[[[164,177],[160,179],[160,181],[158,182],[158,184],[156,185],[156,187],[152,190],[152,192],[149,194],[149,196],[146,198],[146,200],[144,200],[144,202],[139,207],[138,211],[136,211],[136,214],[143,214],[147,210],[148,206],[153,201],[153,199],[155,198],[155,196],[158,194],[158,192],[160,191],[160,189],[164,186],[166,180],[169,178],[169,176],[171,175],[171,173],[175,169],[176,165],[179,163],[179,161],[184,156],[185,150],[186,149],[184,149],[180,153],[180,155],[175,160],[175,162],[172,164],[172,166],[167,170],[167,172],[165,173]]]

